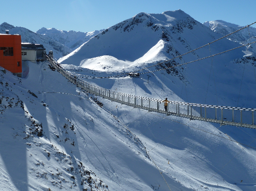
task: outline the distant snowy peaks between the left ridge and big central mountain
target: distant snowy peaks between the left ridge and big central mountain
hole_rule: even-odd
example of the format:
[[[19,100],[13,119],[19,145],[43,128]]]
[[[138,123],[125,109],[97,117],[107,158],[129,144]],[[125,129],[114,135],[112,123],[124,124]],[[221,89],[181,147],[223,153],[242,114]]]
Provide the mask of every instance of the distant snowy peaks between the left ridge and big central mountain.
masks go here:
[[[72,50],[77,49],[80,47],[83,43],[87,42],[91,37],[94,37],[98,33],[102,32],[100,31],[93,31],[93,32],[76,32],[76,31],[64,31],[64,30],[58,30],[55,28],[41,28],[36,33],[39,33],[41,35],[44,35],[46,37],[49,37],[50,39],[53,39],[66,47],[69,47]]]

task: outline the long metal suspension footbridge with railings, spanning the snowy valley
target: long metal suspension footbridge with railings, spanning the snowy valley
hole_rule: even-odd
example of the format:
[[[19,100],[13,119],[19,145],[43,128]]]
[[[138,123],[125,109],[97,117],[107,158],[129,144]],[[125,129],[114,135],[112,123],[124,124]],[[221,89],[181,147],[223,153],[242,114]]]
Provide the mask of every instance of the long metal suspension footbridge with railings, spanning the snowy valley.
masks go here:
[[[256,128],[254,117],[255,109],[170,101],[168,104],[168,111],[166,112],[164,110],[164,104],[162,103],[163,100],[129,95],[104,89],[76,77],[51,57],[47,56],[47,60],[57,71],[66,77],[66,79],[76,84],[76,86],[121,104],[142,108],[152,112],[190,118],[191,120],[204,120],[207,122],[219,123],[221,125]]]

